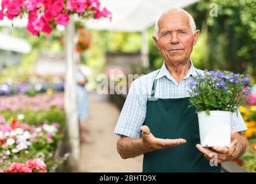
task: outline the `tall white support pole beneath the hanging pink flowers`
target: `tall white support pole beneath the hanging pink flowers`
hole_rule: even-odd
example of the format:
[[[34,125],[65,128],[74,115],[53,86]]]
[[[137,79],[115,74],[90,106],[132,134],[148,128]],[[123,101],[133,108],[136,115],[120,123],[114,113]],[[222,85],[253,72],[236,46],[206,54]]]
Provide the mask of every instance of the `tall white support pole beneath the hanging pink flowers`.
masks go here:
[[[74,169],[78,169],[80,158],[79,123],[76,109],[76,83],[75,83],[75,24],[73,17],[70,17],[66,27],[66,76],[65,76],[65,112],[71,147],[71,157],[69,164]]]

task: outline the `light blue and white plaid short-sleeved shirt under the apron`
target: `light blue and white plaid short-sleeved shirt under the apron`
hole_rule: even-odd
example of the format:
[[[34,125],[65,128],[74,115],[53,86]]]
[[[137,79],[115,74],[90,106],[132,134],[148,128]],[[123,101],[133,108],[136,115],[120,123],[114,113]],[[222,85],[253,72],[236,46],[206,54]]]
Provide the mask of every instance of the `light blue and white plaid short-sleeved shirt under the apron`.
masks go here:
[[[164,62],[159,70],[143,75],[133,81],[118,118],[114,133],[118,136],[140,137],[140,127],[146,117],[147,99],[151,96],[154,78],[158,79],[155,89],[156,98],[185,98],[190,97],[190,82],[192,78],[198,74],[203,75],[203,71],[194,68],[191,62],[191,67],[187,75],[178,83],[169,74]],[[245,131],[247,129],[240,112],[238,112],[238,116],[236,116],[236,113],[233,113],[231,127],[235,129],[236,132]]]

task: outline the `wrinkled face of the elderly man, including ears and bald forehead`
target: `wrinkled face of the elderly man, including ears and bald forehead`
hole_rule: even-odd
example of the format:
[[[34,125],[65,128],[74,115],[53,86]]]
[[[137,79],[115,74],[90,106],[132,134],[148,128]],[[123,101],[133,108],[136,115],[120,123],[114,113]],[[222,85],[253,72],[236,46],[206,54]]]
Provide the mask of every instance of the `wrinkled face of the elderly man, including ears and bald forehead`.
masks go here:
[[[199,30],[192,33],[188,16],[182,11],[170,11],[159,19],[158,26],[158,39],[153,39],[165,62],[177,64],[190,60]]]

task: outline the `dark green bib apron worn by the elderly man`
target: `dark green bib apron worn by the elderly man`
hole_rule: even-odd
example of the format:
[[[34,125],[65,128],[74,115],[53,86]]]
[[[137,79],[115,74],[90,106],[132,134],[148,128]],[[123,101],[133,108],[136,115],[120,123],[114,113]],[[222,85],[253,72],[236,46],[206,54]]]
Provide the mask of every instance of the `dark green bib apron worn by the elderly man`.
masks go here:
[[[195,147],[200,144],[198,116],[189,98],[154,98],[156,86],[157,79],[154,79],[143,125],[147,125],[155,137],[183,138],[187,143],[147,152],[143,172],[221,172],[221,164],[211,167],[210,161]]]

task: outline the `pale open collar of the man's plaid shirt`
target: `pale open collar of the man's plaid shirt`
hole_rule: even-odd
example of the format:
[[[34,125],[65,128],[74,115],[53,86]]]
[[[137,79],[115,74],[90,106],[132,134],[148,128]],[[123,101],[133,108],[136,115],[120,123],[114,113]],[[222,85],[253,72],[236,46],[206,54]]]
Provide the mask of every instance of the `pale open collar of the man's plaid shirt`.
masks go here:
[[[190,69],[188,70],[187,75],[185,75],[185,77],[183,79],[187,79],[191,75],[194,77],[196,75],[198,75],[191,60],[190,60],[190,63],[191,63]],[[167,70],[167,68],[165,66],[165,62],[162,64],[162,67],[160,68],[158,75],[155,76],[155,79],[162,78],[163,76],[166,76],[168,79],[172,80],[172,76],[170,75],[169,71]]]

